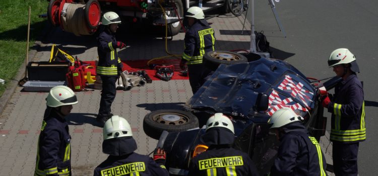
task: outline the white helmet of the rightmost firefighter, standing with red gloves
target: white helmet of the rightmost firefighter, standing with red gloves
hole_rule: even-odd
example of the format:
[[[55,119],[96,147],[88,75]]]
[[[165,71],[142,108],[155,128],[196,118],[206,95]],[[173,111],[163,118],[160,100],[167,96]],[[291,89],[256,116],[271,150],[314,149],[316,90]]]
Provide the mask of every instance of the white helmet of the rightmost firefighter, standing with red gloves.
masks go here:
[[[348,49],[339,48],[332,51],[330,58],[328,59],[328,66],[333,67],[339,64],[351,63],[355,60],[356,58],[354,54],[352,54]]]

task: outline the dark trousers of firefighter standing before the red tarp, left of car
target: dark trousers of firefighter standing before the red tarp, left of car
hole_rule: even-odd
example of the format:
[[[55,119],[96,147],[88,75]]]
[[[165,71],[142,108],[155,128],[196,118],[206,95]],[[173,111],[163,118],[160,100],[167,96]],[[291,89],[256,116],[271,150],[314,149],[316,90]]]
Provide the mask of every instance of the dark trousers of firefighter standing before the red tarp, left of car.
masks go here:
[[[100,76],[102,80],[102,92],[100,100],[99,116],[108,116],[111,113],[111,104],[114,101],[116,90],[115,81],[116,76]]]

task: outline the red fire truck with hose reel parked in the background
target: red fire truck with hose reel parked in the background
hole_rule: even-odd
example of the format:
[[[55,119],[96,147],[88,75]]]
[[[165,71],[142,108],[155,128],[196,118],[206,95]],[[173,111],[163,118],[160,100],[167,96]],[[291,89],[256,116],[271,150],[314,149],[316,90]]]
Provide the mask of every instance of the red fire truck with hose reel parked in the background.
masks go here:
[[[94,34],[104,13],[113,11],[125,22],[167,29],[171,36],[180,32],[184,13],[203,0],[48,0],[47,17],[51,25],[77,36]],[[204,0],[204,12],[223,7],[234,0]],[[200,3],[200,4],[199,4]],[[236,9],[236,7],[235,7]],[[241,11],[242,12],[242,11]],[[240,13],[241,14],[241,13]]]

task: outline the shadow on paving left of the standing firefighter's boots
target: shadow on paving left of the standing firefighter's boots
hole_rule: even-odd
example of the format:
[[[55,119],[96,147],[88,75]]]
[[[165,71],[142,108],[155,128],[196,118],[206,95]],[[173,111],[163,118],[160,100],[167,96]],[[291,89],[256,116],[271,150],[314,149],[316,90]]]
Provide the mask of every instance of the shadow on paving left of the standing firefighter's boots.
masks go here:
[[[97,114],[90,113],[71,113],[65,119],[69,125],[91,124],[98,127],[96,116]]]

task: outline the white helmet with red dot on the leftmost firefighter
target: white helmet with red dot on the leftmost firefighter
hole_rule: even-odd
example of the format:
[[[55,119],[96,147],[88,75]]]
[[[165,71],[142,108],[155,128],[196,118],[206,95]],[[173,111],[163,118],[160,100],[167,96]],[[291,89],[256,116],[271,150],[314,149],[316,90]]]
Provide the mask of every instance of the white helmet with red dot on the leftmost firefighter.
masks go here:
[[[65,85],[52,87],[46,98],[46,105],[49,107],[59,107],[64,105],[74,105],[78,103],[78,99],[74,91]]]

